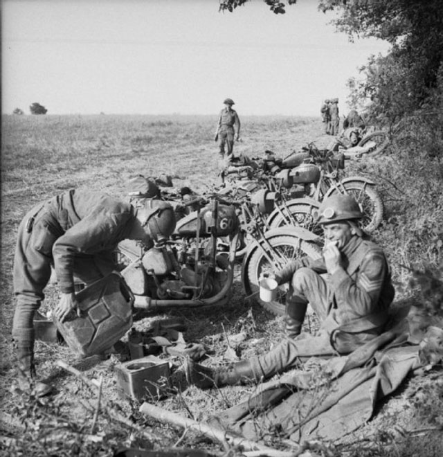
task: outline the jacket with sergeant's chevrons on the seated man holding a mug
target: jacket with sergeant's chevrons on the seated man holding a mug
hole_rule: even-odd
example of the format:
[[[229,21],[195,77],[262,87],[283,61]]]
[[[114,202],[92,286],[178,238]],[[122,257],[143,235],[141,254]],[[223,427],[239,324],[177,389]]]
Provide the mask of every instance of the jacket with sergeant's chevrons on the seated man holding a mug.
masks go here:
[[[395,295],[390,268],[383,250],[369,240],[354,235],[341,250],[342,265],[334,274],[327,274],[330,289],[330,311],[337,325],[355,323],[356,328],[380,328],[388,319],[388,307]],[[276,274],[279,284],[291,281],[300,267],[309,267],[326,274],[325,261],[295,260]],[[288,297],[294,294],[292,285]],[[328,316],[329,317],[329,316]]]

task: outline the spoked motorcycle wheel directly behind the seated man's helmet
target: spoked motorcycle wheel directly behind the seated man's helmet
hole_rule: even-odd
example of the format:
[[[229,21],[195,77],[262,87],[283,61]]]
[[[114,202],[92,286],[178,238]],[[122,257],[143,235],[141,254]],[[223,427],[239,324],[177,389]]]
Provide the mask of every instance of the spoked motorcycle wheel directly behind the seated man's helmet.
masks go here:
[[[363,210],[361,228],[365,232],[371,233],[381,224],[384,214],[383,200],[374,186],[364,181],[347,181],[341,183],[340,188],[334,188],[329,195],[338,193],[351,195],[359,202]]]

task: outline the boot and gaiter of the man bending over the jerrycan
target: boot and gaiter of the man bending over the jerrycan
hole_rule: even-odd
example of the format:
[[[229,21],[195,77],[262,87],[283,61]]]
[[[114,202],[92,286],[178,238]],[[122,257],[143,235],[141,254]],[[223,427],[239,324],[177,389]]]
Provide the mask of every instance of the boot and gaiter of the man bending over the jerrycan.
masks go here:
[[[17,351],[17,381],[19,388],[22,392],[33,392],[36,397],[43,397],[52,391],[52,387],[36,379],[34,366],[34,329],[17,330],[15,331],[14,338]]]

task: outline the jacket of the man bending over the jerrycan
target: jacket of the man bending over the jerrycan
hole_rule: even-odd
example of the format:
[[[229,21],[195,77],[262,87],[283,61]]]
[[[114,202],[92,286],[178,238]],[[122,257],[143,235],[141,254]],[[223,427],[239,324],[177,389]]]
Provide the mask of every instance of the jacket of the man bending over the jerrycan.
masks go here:
[[[69,190],[44,204],[55,272],[61,292],[74,291],[76,256],[102,257],[112,263],[116,245],[127,238],[136,219],[134,207],[109,195],[87,190]],[[52,239],[51,239],[52,235]]]

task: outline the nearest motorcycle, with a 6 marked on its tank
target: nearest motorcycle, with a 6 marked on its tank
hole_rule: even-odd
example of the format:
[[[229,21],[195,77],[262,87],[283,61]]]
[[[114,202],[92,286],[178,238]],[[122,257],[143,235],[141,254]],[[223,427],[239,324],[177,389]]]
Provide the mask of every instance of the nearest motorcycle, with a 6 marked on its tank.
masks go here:
[[[135,308],[156,311],[223,305],[228,301],[239,218],[235,206],[219,195],[197,197],[181,204],[196,205],[197,210],[179,219],[170,238],[153,247],[143,247],[133,240],[118,244],[116,256],[123,264],[120,273],[134,294]],[[294,258],[320,255],[317,237],[302,228],[262,232],[249,243],[244,257],[242,282],[246,294],[255,296],[262,267],[280,269]],[[281,300],[280,294],[274,305],[262,304],[281,311]]]

